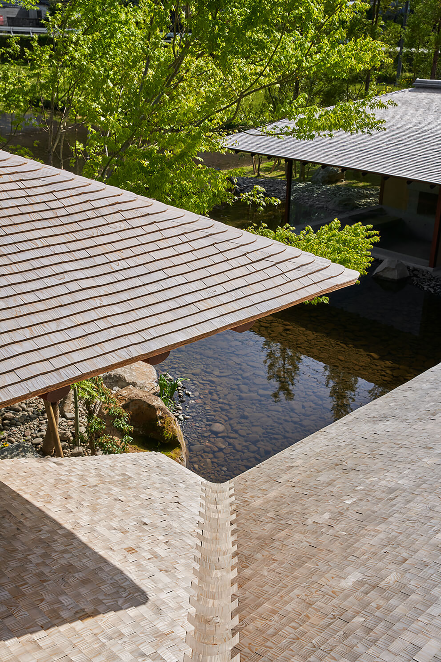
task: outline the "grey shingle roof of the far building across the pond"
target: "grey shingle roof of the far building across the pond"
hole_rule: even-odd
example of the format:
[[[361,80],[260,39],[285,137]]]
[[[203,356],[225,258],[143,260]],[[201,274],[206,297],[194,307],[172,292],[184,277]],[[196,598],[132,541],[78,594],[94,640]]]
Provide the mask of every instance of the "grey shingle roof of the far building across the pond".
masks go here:
[[[429,81],[429,83],[439,81]],[[233,150],[295,159],[327,166],[354,168],[382,175],[407,177],[441,184],[441,89],[424,86],[383,95],[397,105],[376,111],[385,119],[385,130],[371,136],[336,131],[332,138],[296,140],[262,134],[261,130],[229,136]],[[294,128],[282,120],[270,125]]]

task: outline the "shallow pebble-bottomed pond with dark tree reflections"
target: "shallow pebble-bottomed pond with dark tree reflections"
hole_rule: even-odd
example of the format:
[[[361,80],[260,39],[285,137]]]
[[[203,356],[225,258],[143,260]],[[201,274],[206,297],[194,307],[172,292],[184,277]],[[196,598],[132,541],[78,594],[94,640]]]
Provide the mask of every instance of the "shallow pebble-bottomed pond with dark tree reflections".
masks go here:
[[[161,364],[196,394],[183,428],[191,469],[229,479],[441,361],[440,299],[370,277],[330,299],[179,348]],[[214,422],[225,430],[214,434]]]

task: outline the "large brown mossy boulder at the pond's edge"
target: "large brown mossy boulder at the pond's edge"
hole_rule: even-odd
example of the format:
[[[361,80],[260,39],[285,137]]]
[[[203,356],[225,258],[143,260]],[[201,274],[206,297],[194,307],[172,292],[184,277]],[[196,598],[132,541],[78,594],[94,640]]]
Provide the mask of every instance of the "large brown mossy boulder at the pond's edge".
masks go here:
[[[155,439],[163,444],[180,445],[186,458],[184,435],[177,418],[153,393],[127,386],[118,393],[122,408],[130,412],[130,424],[135,434]]]

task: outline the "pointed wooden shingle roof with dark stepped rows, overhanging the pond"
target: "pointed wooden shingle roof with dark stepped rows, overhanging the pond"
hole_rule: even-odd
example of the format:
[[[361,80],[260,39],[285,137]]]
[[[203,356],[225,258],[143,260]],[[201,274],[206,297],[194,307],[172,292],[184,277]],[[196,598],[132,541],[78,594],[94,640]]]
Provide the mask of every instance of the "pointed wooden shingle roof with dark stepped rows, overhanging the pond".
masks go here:
[[[356,271],[0,151],[0,404],[354,283]]]

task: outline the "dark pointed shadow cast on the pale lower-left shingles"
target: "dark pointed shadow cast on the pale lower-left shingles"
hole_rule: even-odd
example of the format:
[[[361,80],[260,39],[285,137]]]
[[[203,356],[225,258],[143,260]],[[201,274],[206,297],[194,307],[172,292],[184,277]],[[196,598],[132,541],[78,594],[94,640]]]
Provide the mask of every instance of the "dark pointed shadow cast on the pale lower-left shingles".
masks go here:
[[[0,640],[145,604],[118,567],[0,482]]]

